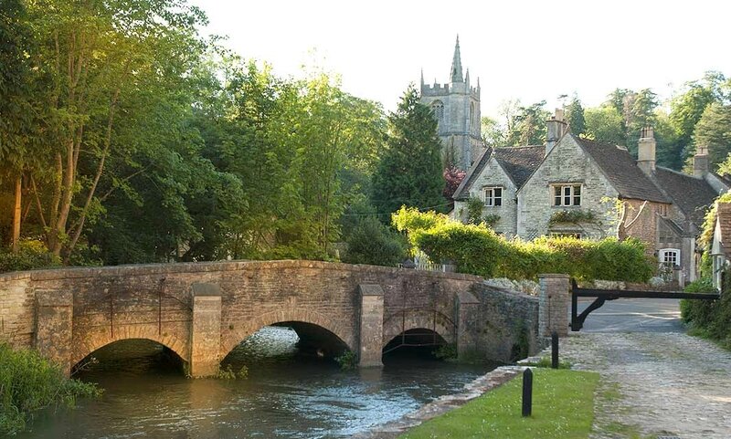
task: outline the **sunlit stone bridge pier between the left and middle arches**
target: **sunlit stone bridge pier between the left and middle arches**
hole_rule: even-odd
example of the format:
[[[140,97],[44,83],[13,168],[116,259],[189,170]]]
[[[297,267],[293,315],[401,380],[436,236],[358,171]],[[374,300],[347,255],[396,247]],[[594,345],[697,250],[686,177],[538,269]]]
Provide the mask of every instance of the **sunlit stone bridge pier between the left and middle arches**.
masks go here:
[[[193,284],[190,325],[190,376],[216,375],[221,348],[221,289],[216,284]]]

